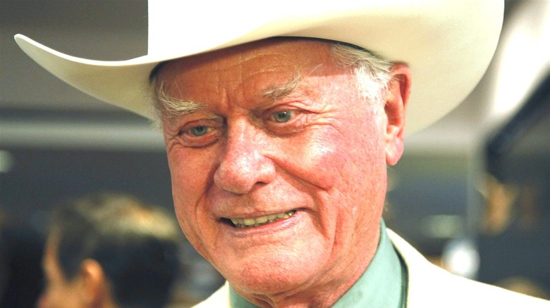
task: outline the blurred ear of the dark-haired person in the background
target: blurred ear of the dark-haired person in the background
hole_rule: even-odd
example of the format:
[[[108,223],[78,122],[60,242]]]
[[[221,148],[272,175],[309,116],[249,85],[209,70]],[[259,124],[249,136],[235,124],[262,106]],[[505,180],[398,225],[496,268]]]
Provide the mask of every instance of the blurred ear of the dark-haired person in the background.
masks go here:
[[[76,283],[80,301],[85,307],[104,307],[104,303],[110,300],[109,283],[101,264],[96,260],[82,261]]]

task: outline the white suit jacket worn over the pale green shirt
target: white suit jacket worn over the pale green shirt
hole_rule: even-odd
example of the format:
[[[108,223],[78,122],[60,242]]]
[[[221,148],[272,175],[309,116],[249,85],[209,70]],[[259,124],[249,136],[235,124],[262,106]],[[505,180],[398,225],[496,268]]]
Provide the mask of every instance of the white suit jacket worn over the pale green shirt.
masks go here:
[[[407,264],[407,308],[550,308],[549,301],[453,275],[429,262],[396,233],[386,230],[393,247]],[[195,307],[231,307],[228,283]]]

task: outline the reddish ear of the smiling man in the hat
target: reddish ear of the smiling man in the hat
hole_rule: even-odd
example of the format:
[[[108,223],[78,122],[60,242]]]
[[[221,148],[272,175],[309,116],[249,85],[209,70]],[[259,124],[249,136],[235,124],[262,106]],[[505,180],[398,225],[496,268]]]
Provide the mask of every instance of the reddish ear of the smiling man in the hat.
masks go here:
[[[386,106],[386,162],[395,165],[403,155],[405,109],[410,95],[411,75],[408,65],[394,63],[391,67]]]

